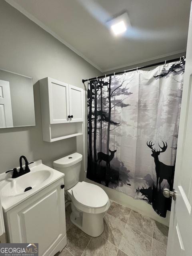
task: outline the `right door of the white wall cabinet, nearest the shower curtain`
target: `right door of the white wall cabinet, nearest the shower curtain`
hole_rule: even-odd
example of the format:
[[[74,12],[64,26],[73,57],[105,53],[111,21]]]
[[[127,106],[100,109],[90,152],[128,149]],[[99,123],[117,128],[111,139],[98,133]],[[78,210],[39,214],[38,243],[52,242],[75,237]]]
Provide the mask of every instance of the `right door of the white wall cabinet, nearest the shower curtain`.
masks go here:
[[[83,121],[83,89],[69,84],[70,122]]]

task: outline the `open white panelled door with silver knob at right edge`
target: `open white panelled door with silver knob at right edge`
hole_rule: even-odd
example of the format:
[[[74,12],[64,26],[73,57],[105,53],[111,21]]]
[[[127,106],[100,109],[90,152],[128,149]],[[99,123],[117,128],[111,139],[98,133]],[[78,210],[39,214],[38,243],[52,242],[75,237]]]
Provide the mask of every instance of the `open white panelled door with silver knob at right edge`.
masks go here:
[[[192,8],[188,31],[184,88],[167,256],[192,256]]]

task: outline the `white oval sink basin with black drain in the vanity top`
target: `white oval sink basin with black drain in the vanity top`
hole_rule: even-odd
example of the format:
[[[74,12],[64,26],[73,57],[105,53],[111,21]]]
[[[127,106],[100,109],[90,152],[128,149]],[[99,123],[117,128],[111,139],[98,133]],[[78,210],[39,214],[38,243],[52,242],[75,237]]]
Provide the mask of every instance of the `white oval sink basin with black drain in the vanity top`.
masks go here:
[[[6,184],[1,190],[3,197],[18,196],[31,192],[31,190],[40,187],[51,176],[50,170],[41,170],[36,172],[28,172],[18,178],[10,179],[10,182]],[[24,191],[26,188],[32,187],[28,191]]]

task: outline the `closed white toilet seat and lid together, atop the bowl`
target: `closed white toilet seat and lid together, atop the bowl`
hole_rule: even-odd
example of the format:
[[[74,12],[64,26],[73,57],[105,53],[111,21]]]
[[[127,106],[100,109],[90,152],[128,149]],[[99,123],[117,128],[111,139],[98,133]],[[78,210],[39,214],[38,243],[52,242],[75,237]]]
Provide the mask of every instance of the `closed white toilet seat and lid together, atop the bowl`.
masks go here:
[[[97,185],[88,182],[78,182],[67,190],[76,208],[87,213],[102,213],[110,205],[106,192]]]

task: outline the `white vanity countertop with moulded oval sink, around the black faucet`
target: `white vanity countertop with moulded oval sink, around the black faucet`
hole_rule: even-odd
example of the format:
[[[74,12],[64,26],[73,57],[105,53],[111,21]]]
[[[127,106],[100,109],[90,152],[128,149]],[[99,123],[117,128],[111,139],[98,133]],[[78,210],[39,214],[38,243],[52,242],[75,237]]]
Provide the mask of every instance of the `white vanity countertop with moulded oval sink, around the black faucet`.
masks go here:
[[[30,172],[18,178],[12,178],[12,172],[0,174],[3,211],[7,212],[62,177],[64,177],[62,172],[42,164],[42,160],[31,164]],[[32,189],[24,192],[24,189],[28,187],[32,187]]]

